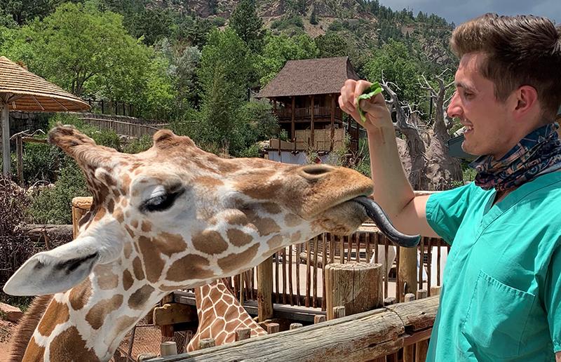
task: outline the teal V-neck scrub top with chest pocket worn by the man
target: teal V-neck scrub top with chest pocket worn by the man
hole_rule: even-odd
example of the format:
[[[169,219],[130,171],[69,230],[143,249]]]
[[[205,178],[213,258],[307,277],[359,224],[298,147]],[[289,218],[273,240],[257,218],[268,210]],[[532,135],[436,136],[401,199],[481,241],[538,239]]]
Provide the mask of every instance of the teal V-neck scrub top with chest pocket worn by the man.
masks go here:
[[[561,172],[494,197],[472,182],[428,198],[428,224],[452,247],[427,361],[561,351]]]

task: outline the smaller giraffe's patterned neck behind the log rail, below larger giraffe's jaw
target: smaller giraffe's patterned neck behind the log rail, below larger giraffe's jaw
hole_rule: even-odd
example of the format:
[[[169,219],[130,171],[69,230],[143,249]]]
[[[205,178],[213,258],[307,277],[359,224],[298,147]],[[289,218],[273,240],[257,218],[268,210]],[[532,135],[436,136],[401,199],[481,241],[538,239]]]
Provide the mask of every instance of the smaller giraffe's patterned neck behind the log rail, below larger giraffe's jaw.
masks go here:
[[[245,311],[222,279],[196,288],[195,300],[198,328],[187,344],[188,352],[198,349],[198,341],[203,338],[214,338],[217,346],[234,342],[239,328],[250,328],[252,337],[267,334]]]

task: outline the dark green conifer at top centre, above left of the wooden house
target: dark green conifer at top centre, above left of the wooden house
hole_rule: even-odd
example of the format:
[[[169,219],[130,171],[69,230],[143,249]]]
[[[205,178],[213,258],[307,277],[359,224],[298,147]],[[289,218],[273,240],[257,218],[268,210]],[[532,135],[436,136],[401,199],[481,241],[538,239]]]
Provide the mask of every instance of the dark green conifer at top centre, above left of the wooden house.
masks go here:
[[[255,0],[241,0],[230,17],[230,27],[248,44],[248,47],[259,53],[263,47],[263,20],[257,15]]]

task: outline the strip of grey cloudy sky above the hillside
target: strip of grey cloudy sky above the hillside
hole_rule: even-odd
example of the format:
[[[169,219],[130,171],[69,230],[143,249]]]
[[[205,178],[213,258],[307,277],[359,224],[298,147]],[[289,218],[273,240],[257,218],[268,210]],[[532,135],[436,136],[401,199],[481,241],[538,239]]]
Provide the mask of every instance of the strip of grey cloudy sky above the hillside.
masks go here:
[[[561,0],[380,0],[380,4],[393,11],[407,8],[414,15],[435,13],[456,25],[485,13],[539,15],[561,23]]]

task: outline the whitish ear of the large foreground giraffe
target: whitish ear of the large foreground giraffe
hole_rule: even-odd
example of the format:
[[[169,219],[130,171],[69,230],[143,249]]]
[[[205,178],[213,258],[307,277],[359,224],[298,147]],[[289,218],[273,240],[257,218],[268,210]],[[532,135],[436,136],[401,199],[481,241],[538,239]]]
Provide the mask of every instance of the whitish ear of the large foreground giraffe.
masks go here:
[[[9,295],[47,295],[65,292],[80,283],[100,261],[103,250],[88,237],[33,255],[4,286]]]

